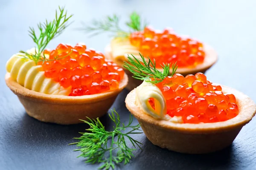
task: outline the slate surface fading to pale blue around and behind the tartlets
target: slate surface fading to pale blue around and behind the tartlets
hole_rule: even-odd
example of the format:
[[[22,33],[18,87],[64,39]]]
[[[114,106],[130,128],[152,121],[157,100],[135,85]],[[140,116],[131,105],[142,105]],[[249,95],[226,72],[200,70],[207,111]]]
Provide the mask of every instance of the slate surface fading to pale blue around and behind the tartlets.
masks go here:
[[[255,45],[256,1],[254,0],[0,0],[0,169],[3,170],[66,170],[96,169],[77,159],[78,132],[85,124],[55,125],[29,117],[23,106],[4,81],[5,63],[19,50],[33,47],[27,35],[29,26],[52,20],[55,8],[66,6],[75,14],[75,21],[64,33],[49,44],[55,48],[60,42],[75,45],[85,42],[88,47],[103,51],[108,35],[89,38],[76,28],[81,21],[119,14],[122,21],[132,11],[138,11],[154,28],[170,26],[179,34],[187,34],[212,45],[219,54],[218,62],[207,71],[212,82],[236,88],[256,101]],[[124,90],[114,105],[122,121],[128,121],[129,112]],[[108,116],[102,117],[111,129]],[[137,120],[134,121],[134,124]],[[143,142],[143,151],[134,152],[135,158],[122,169],[256,169],[256,119],[246,125],[233,144],[217,153],[186,155],[161,149],[151,144],[144,134],[134,138]]]

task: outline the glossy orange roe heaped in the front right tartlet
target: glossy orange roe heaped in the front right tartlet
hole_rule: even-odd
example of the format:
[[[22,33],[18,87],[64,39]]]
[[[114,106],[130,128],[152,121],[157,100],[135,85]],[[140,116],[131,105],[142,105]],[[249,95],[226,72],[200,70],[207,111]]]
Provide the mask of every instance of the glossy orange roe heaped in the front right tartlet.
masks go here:
[[[232,119],[239,113],[236,97],[224,94],[220,85],[202,73],[175,74],[156,84],[166,99],[167,114],[182,116],[183,123],[210,123]],[[154,108],[154,99],[149,99]]]

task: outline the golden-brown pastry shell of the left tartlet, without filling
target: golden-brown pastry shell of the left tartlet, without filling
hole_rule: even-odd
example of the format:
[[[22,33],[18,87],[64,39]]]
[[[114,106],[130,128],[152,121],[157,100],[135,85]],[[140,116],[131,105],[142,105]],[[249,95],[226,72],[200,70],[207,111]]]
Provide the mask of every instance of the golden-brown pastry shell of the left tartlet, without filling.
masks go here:
[[[43,122],[69,125],[81,123],[86,117],[96,119],[111,107],[116,96],[125,88],[128,77],[119,83],[119,88],[101,94],[86,96],[60,96],[38,93],[24,88],[6,74],[6,85],[16,94],[29,116]]]

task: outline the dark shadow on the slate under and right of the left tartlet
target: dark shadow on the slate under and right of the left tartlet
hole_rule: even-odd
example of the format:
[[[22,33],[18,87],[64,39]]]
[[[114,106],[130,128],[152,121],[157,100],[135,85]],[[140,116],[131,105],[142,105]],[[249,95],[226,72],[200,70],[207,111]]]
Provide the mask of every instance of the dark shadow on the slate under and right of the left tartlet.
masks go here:
[[[125,107],[125,96],[128,94],[128,91],[124,90],[122,93],[116,98],[115,104],[111,107],[113,109],[115,106],[119,109],[116,111],[119,113],[121,122],[125,124],[129,121],[129,112]],[[121,109],[122,108],[122,111]],[[108,113],[111,113],[111,109]],[[105,126],[106,130],[113,130],[113,125],[115,125],[112,120],[109,118],[108,113],[100,118],[100,121]],[[137,120],[134,119],[134,123],[136,124]],[[23,114],[21,121],[18,121],[14,128],[10,128],[10,133],[12,134],[6,139],[11,141],[15,141],[16,145],[14,147],[24,147],[24,145],[39,147],[47,145],[67,145],[69,143],[77,142],[74,137],[79,137],[81,134],[79,132],[85,132],[85,129],[89,128],[89,125],[83,123],[81,121],[80,124],[76,125],[58,125],[53,123],[45,123],[40,122],[37,119],[34,119],[27,115],[27,113]],[[11,138],[11,139],[10,139]]]

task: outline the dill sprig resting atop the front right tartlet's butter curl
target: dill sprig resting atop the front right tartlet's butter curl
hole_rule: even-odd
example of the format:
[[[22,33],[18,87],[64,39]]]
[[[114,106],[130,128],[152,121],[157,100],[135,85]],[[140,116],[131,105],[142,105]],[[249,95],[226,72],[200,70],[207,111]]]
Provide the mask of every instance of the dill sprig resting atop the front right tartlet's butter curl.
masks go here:
[[[139,53],[140,54],[140,53]],[[156,62],[148,57],[148,62],[145,61],[145,58],[140,54],[141,59],[137,59],[134,55],[132,57],[128,55],[127,62],[124,62],[124,68],[128,69],[133,75],[134,78],[145,80],[153,84],[162,82],[163,79],[167,76],[173,76],[177,70],[177,62],[172,64],[172,74],[170,73],[170,64],[163,64],[161,67],[163,71],[159,71],[156,68]],[[152,80],[151,78],[154,78]]]

